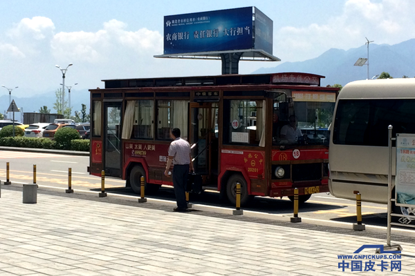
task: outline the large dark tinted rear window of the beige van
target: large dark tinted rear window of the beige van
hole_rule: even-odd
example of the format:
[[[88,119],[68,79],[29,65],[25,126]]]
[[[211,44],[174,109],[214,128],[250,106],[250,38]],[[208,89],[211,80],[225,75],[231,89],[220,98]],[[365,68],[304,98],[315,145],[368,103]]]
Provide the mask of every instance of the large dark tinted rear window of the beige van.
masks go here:
[[[415,133],[414,99],[342,99],[333,128],[333,144],[387,146],[389,125],[396,133]]]

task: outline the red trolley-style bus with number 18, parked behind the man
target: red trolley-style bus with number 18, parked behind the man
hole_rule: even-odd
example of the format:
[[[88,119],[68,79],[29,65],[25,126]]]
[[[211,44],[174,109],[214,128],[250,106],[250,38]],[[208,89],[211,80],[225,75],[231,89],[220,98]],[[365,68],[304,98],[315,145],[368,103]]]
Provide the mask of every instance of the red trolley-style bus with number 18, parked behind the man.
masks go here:
[[[172,128],[192,145],[194,190],[241,204],[254,196],[299,200],[328,192],[329,124],[338,88],[320,75],[276,73],[104,80],[91,89],[92,175],[120,177],[140,193],[172,185],[163,175]],[[282,139],[291,115],[302,131]]]

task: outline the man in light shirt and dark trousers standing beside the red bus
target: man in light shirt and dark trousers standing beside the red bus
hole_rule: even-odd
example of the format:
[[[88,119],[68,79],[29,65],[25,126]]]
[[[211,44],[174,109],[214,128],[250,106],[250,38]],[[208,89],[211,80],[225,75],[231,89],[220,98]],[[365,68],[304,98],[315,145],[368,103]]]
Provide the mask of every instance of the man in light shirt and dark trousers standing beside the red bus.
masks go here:
[[[193,163],[190,144],[185,139],[181,139],[181,131],[179,128],[173,128],[170,137],[174,139],[169,146],[169,159],[167,160],[165,176],[170,177],[169,170],[172,162],[173,167],[173,186],[176,195],[177,207],[173,210],[176,212],[185,212],[187,209],[186,201],[186,185],[187,175],[193,171]]]

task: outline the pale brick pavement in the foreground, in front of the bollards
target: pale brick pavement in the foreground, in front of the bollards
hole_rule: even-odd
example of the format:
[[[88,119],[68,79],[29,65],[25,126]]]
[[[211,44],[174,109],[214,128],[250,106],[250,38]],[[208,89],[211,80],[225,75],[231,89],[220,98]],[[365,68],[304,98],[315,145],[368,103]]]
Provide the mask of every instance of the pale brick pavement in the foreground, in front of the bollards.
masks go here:
[[[349,275],[357,272],[342,272],[338,255],[385,244],[379,234],[208,211],[174,213],[162,203],[53,190],[39,189],[37,204],[22,204],[20,187],[1,188],[0,276]],[[382,272],[377,259],[376,271],[359,274],[415,275],[414,239],[393,240],[404,249],[401,271],[388,266]]]

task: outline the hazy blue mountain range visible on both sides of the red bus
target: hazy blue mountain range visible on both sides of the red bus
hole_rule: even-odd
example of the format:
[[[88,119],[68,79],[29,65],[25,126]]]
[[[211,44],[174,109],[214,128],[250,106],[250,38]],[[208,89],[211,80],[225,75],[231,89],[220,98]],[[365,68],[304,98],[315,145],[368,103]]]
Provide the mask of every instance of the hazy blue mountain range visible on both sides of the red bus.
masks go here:
[[[391,77],[399,78],[415,76],[415,39],[403,41],[395,45],[369,44],[369,78],[388,72]],[[349,50],[332,48],[327,50],[315,59],[306,61],[284,62],[273,68],[260,68],[253,74],[274,73],[274,72],[307,72],[325,76],[322,79],[322,86],[335,83],[346,85],[350,81],[367,79],[367,66],[353,66],[360,58],[367,58],[367,45]],[[66,93],[66,99],[67,99]],[[48,106],[51,113],[55,113],[53,103],[56,101],[55,92],[50,91],[34,97],[13,97],[17,106],[23,108],[24,112],[39,112],[42,106]],[[89,91],[73,90],[71,92],[71,104],[73,113],[81,110],[81,104],[86,104],[89,110]],[[0,97],[0,112],[8,108],[8,95]],[[17,113],[16,118],[20,118]]]

